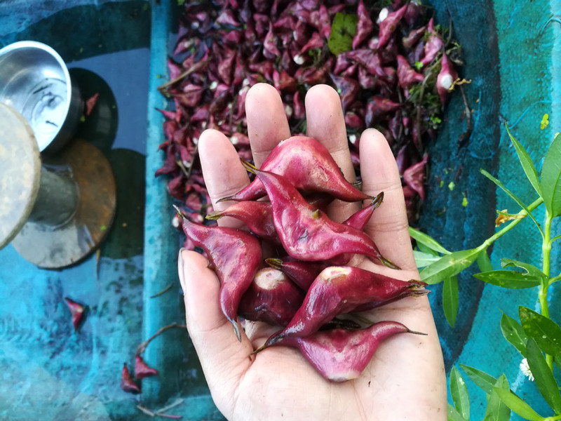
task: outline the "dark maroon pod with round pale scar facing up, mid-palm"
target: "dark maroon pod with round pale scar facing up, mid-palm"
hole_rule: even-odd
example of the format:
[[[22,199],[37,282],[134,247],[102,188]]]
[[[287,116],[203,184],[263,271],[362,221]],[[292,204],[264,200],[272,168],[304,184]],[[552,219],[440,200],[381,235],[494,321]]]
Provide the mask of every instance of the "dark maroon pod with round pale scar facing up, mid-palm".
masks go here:
[[[241,298],[238,315],[247,320],[286,326],[304,301],[304,292],[273,267],[259,269]]]

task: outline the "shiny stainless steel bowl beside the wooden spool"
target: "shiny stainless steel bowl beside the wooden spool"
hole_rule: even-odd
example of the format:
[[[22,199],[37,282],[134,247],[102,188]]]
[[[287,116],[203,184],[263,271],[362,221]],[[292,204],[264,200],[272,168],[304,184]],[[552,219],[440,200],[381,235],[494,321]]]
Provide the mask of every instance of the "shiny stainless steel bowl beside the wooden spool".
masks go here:
[[[83,113],[79,88],[53,48],[20,41],[0,50],[0,102],[32,127],[39,151],[52,153],[72,138]]]

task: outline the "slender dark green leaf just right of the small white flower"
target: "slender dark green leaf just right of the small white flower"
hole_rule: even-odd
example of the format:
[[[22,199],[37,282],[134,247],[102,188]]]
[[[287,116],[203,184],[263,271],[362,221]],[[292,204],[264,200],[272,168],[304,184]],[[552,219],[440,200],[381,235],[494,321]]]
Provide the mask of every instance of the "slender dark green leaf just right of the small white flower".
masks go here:
[[[526,344],[526,354],[528,366],[530,371],[532,371],[532,375],[534,375],[534,381],[541,396],[555,410],[555,413],[561,414],[561,393],[557,388],[557,382],[555,382],[553,373],[543,357],[541,349],[539,349],[538,344],[532,338],[529,338]]]

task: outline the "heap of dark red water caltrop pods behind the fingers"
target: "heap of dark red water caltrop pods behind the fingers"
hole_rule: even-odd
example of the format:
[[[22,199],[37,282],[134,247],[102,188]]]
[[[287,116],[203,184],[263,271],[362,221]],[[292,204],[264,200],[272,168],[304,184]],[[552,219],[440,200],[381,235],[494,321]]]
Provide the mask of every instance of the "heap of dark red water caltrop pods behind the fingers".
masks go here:
[[[156,175],[168,175],[168,191],[191,220],[211,213],[196,160],[198,138],[206,128],[222,131],[240,157],[251,161],[245,95],[259,82],[277,88],[293,134],[305,133],[309,88],[333,86],[342,99],[359,179],[358,139],[369,127],[401,155],[404,175],[428,159],[426,145],[442,123],[449,90],[466,83],[457,76],[460,46],[430,15],[417,1],[401,0],[390,6],[363,0],[185,2],[168,60],[170,81],[159,88],[175,110],[161,110],[165,162]],[[471,113],[466,120],[461,142],[471,133]],[[427,167],[417,173],[415,188],[404,180],[410,222],[419,215]],[[191,241],[184,246],[194,248]]]

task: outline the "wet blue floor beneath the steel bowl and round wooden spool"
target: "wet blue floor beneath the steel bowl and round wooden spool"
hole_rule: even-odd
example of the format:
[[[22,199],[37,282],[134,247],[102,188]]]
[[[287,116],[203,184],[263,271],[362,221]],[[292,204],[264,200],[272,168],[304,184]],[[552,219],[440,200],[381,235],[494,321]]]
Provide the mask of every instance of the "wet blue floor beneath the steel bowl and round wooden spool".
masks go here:
[[[136,420],[140,397],[123,392],[120,377],[142,342],[150,9],[142,1],[65,6],[2,2],[0,45],[45,42],[69,67],[82,69],[86,98],[100,91],[79,135],[109,159],[118,204],[99,262],[93,255],[49,271],[12,246],[0,250],[0,419]],[[106,136],[88,130],[102,105],[116,119]],[[89,308],[76,333],[65,297]]]

